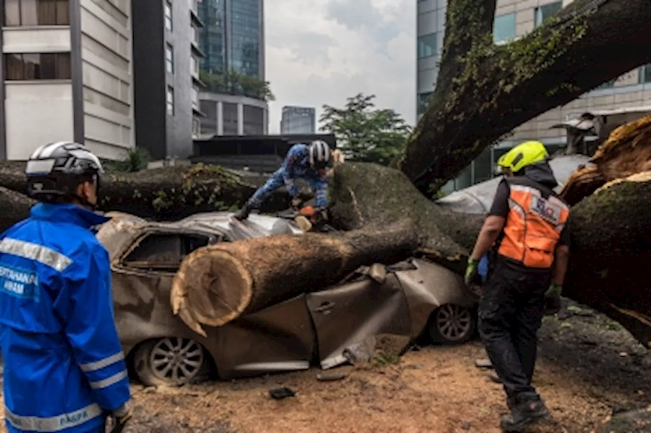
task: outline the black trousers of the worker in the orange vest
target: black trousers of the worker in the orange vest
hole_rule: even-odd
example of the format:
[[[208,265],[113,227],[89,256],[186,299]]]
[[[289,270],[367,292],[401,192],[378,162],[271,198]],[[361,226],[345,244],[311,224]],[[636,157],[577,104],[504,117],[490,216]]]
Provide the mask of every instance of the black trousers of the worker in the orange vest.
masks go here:
[[[497,258],[482,288],[479,335],[510,400],[537,395],[531,386],[545,292],[551,272],[518,269]]]

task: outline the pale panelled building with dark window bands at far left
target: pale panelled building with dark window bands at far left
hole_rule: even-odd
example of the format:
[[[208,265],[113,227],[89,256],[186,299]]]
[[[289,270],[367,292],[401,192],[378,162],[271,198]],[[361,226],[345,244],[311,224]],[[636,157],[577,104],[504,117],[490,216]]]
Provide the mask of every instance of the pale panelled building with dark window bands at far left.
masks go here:
[[[0,159],[61,140],[124,156],[134,145],[130,0],[2,3]]]

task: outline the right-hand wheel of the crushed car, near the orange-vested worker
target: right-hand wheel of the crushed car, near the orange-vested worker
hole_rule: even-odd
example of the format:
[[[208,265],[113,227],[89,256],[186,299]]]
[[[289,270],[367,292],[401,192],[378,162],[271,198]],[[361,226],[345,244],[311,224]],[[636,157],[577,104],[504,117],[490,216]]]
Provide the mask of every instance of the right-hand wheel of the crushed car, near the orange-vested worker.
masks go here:
[[[475,314],[468,307],[441,305],[430,317],[430,337],[434,342],[461,344],[473,337],[476,324]]]

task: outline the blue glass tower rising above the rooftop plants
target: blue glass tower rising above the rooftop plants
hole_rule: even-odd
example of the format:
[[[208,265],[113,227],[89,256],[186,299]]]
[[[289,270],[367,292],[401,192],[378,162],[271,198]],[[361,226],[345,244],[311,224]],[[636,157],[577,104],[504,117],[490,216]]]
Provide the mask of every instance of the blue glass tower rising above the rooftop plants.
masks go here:
[[[264,1],[202,0],[201,70],[219,74],[233,68],[264,79]]]

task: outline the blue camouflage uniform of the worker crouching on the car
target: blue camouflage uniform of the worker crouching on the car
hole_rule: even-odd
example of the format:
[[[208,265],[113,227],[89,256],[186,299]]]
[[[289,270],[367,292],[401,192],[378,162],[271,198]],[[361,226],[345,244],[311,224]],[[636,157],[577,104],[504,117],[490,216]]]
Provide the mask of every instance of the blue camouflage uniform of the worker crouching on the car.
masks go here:
[[[326,176],[320,176],[318,171],[310,166],[309,148],[300,143],[290,148],[281,168],[277,169],[267,182],[255,191],[247,204],[252,209],[259,209],[271,193],[283,185],[287,187],[290,195],[295,197],[298,194],[298,186],[294,184],[296,178],[301,178],[312,188],[316,207],[327,208]]]

